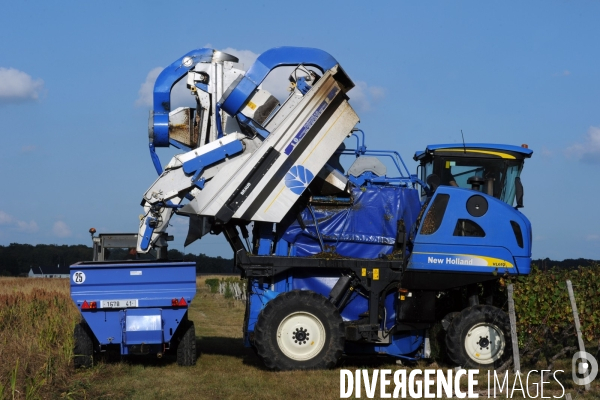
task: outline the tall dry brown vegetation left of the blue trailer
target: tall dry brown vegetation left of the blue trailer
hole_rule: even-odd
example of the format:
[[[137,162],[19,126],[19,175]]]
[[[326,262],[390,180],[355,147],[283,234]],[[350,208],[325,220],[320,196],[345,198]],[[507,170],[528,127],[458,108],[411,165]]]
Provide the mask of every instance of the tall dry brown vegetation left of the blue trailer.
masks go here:
[[[78,318],[67,280],[0,280],[0,398],[51,397],[68,387]]]

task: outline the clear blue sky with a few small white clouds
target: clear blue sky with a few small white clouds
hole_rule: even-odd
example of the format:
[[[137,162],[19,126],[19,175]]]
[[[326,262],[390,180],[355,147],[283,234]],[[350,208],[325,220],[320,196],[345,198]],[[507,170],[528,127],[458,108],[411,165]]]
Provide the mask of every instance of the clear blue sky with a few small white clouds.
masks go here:
[[[409,168],[427,144],[534,150],[523,212],[534,258],[600,258],[600,3],[595,1],[4,2],[0,244],[135,232],[157,68],[211,46],[331,53],[372,148]],[[146,83],[146,84],[145,84]],[[183,249],[187,222],[173,220]],[[231,256],[220,238],[186,251]]]

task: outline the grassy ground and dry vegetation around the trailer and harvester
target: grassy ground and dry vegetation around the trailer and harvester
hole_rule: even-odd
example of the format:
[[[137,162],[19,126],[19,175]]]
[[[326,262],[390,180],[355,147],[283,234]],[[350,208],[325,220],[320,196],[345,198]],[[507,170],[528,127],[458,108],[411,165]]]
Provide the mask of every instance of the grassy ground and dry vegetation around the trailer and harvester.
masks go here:
[[[69,298],[68,281],[0,279],[0,398],[332,399],[340,396],[340,368],[405,368],[385,358],[348,358],[331,371],[267,371],[254,352],[243,347],[243,304],[210,293],[206,278],[198,278],[198,294],[190,307],[199,349],[194,367],[179,367],[168,356],[136,357],[101,361],[78,372],[73,371],[71,357],[72,330],[79,315]],[[426,362],[412,367],[438,368]],[[439,365],[445,367],[449,366]],[[570,359],[555,369],[565,370],[559,377],[574,399],[600,398],[599,380],[585,395],[573,387]],[[545,396],[562,392],[558,384],[546,387],[551,391]],[[487,388],[484,373],[479,388]],[[513,398],[522,398],[518,393]],[[364,388],[362,398],[366,398]]]

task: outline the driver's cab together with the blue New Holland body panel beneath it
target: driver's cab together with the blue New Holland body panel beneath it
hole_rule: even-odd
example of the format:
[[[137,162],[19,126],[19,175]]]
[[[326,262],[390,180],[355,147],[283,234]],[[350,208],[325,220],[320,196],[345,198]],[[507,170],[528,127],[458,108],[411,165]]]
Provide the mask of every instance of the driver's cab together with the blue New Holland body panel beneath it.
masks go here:
[[[407,267],[415,285],[430,279],[417,273],[423,271],[446,274],[440,290],[464,285],[467,277],[492,279],[493,271],[529,273],[531,223],[517,208],[523,207],[520,174],[532,154],[525,146],[469,143],[415,154],[428,186]]]

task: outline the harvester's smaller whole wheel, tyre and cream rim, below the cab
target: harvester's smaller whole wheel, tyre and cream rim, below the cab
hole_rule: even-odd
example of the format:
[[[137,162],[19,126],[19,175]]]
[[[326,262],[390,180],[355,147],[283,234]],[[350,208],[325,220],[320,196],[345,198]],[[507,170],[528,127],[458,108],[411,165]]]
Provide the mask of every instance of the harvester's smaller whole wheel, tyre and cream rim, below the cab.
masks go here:
[[[461,367],[500,367],[512,354],[508,315],[488,305],[464,309],[448,327],[446,348],[450,360]]]

